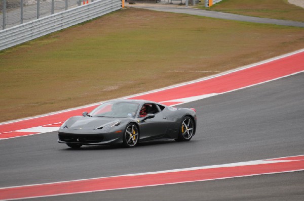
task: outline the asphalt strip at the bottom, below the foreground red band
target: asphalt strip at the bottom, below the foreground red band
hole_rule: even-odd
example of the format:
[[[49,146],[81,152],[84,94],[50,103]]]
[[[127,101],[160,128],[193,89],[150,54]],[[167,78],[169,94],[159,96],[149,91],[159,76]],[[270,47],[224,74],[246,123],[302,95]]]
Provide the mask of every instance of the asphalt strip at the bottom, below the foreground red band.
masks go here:
[[[302,172],[60,196],[60,200],[293,200],[302,201]],[[59,197],[28,200],[57,201]]]

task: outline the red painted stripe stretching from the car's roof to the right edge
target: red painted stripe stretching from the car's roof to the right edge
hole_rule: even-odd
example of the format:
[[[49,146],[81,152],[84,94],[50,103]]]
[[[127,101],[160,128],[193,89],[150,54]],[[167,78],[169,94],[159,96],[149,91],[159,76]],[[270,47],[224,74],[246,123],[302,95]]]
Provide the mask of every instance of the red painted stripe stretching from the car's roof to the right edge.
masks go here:
[[[163,102],[165,100],[180,99],[210,93],[223,93],[303,70],[304,52],[230,74],[225,74],[193,84],[187,84],[178,88],[171,88],[155,93],[132,97],[132,99],[148,99],[156,102]]]

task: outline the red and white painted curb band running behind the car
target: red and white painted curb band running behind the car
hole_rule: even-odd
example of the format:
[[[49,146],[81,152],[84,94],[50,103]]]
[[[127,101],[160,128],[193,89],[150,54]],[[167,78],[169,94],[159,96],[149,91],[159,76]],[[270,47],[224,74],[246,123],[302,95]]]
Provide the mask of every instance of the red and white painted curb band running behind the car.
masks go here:
[[[125,98],[146,99],[175,106],[301,72],[304,72],[304,49],[229,72]],[[0,140],[56,131],[69,117],[81,115],[84,111],[92,111],[99,104],[2,123],[0,124]]]

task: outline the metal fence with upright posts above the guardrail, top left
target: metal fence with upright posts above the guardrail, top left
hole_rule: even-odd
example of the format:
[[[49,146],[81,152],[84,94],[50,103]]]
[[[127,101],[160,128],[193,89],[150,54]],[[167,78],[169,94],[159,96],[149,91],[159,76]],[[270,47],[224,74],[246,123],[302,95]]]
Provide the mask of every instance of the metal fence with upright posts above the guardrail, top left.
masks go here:
[[[94,0],[0,0],[0,30],[94,2]]]

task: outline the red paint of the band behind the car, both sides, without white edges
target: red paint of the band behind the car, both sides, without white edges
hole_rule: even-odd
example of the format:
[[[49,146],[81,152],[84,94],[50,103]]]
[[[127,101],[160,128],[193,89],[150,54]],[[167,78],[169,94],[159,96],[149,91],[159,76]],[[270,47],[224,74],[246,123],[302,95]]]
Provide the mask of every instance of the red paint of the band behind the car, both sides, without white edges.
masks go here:
[[[223,93],[253,84],[262,83],[272,79],[288,76],[304,71],[304,52],[296,53],[281,59],[246,68],[222,76],[186,84],[154,93],[148,93],[131,97],[133,99],[148,99],[156,102],[164,102],[185,97],[204,95],[210,93]],[[169,104],[169,103],[165,103]],[[0,132],[21,130],[42,125],[64,122],[69,117],[81,115],[84,111],[92,111],[97,106],[91,106],[72,111],[61,112],[45,117],[32,118],[14,123],[0,125]]]

